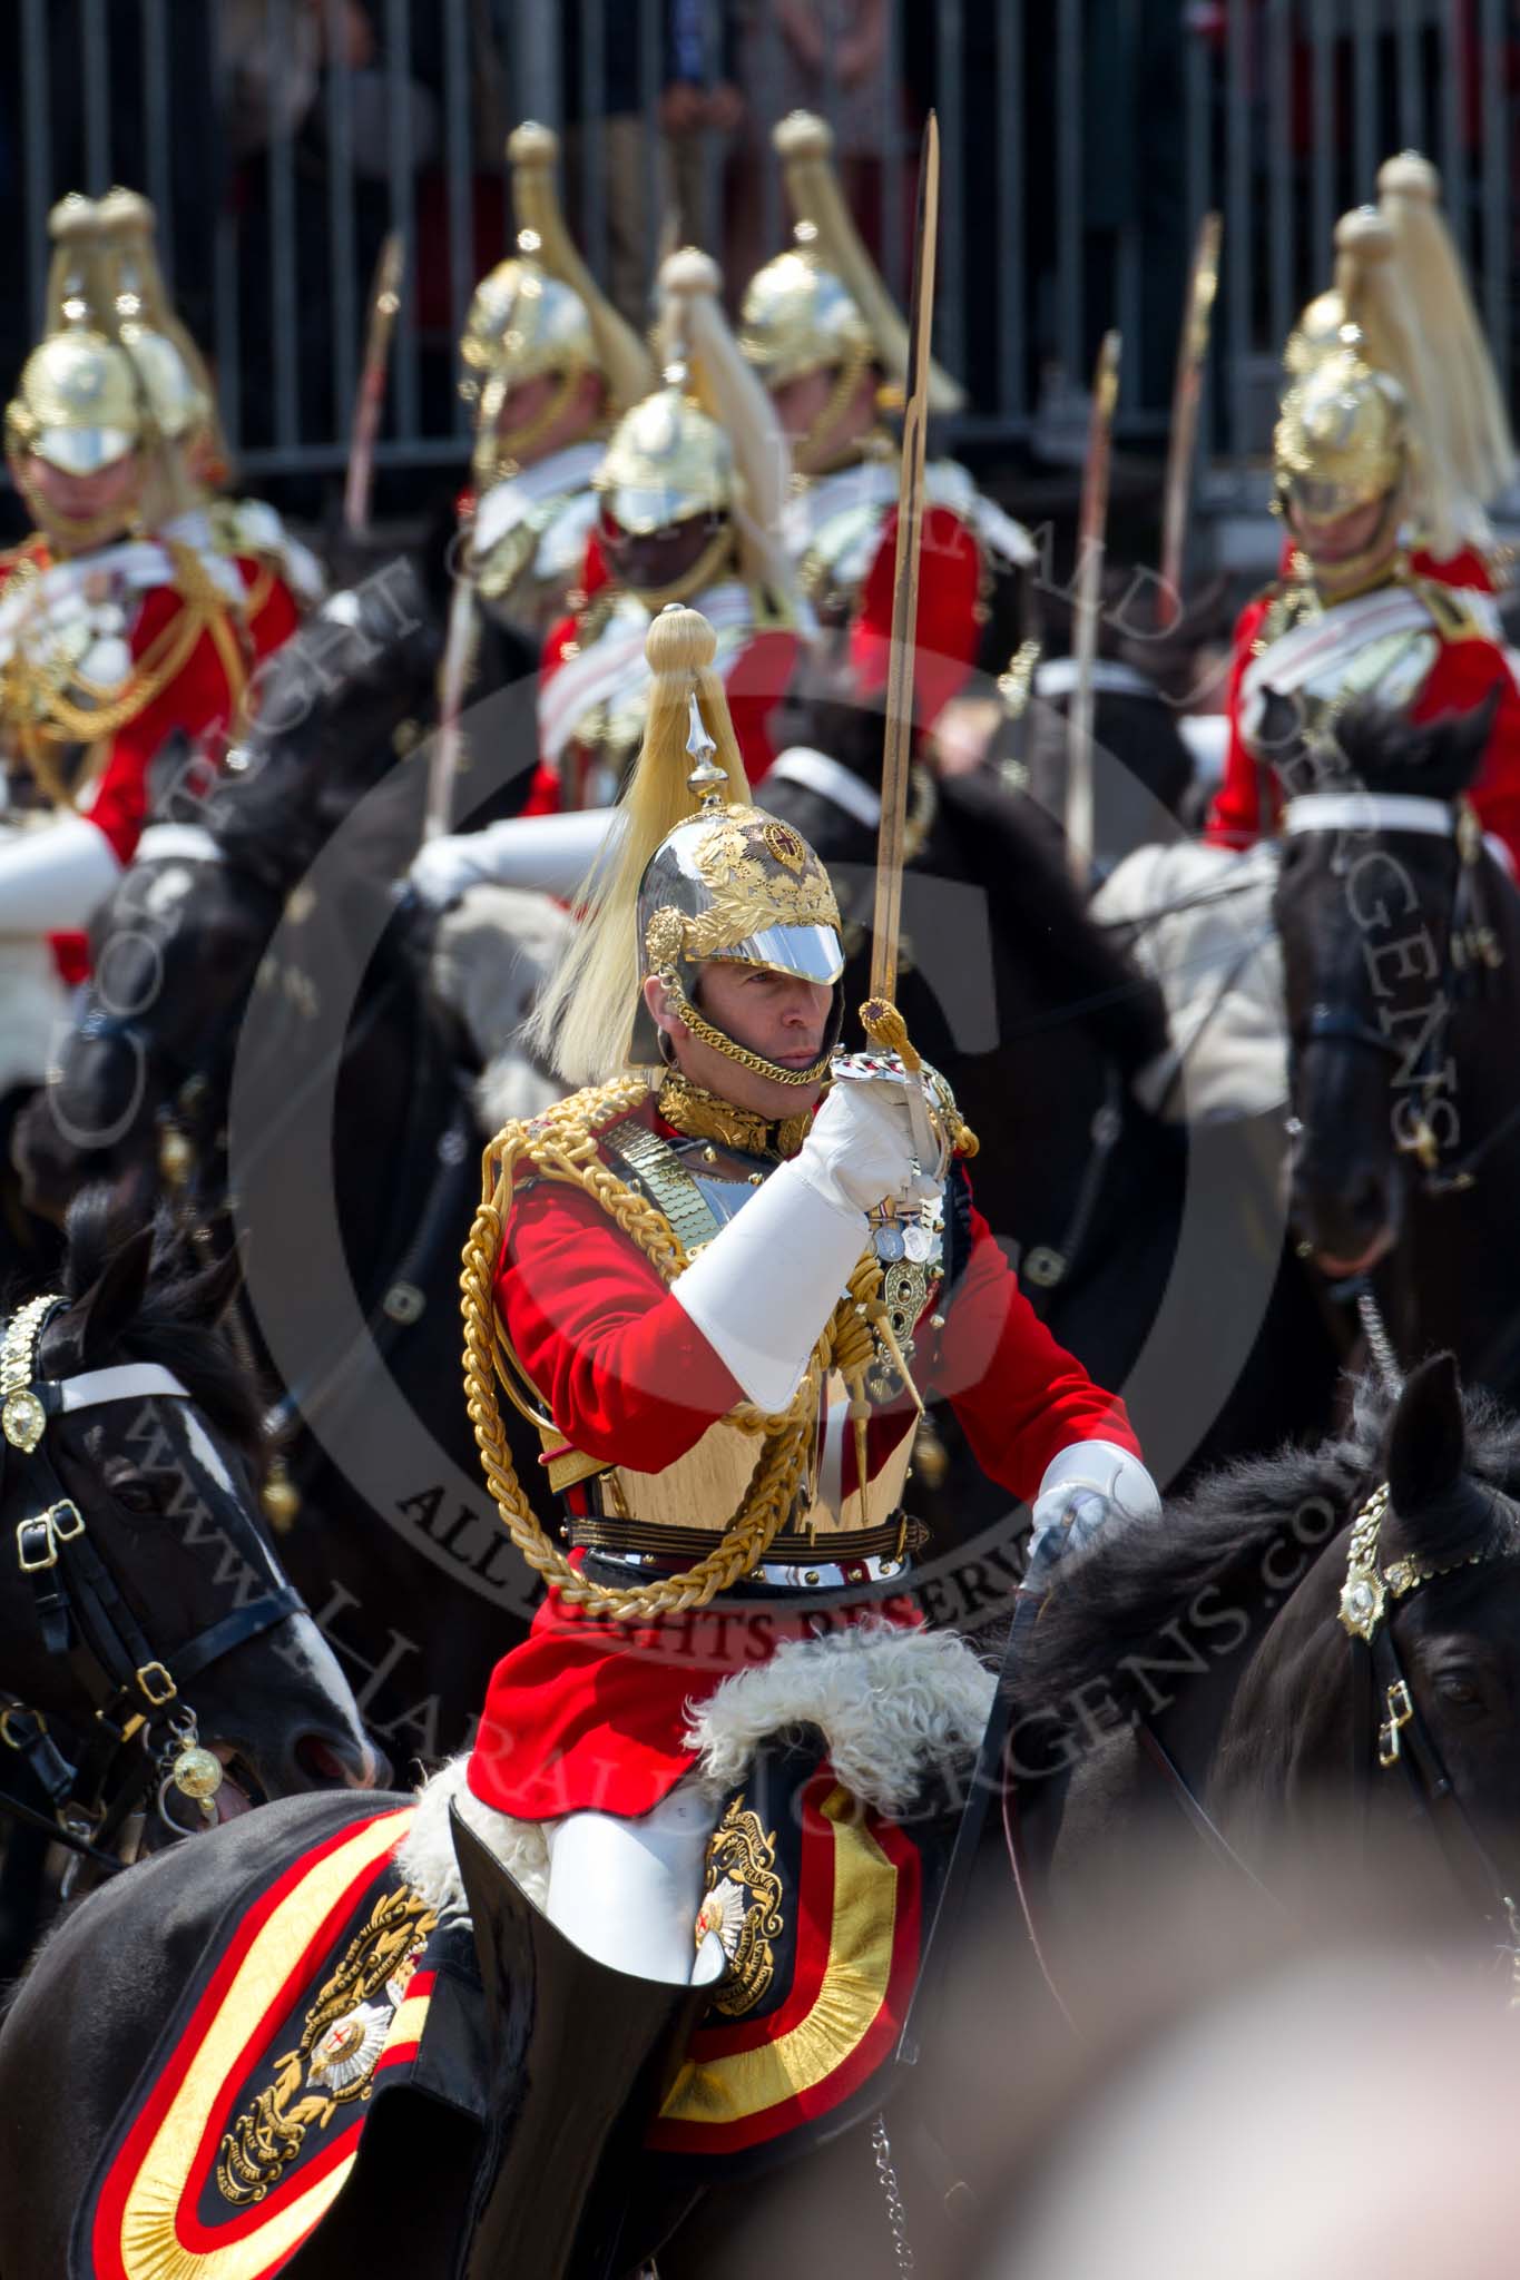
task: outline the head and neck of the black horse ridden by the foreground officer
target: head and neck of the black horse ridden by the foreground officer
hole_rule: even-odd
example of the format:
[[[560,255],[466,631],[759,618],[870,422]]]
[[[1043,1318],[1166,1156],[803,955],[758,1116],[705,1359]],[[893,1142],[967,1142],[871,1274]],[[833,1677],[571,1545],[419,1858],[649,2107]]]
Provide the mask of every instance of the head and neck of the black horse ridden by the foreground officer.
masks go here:
[[[1297,1835],[1424,1826],[1454,1929],[1511,1936],[1520,1872],[1520,1427],[1449,1354],[1351,1430],[1210,1477],[1162,1530],[1062,1573],[1016,1671],[1010,1765],[1032,1849],[1112,1872],[1158,1817],[1224,1890]]]

